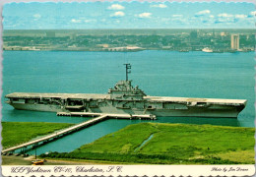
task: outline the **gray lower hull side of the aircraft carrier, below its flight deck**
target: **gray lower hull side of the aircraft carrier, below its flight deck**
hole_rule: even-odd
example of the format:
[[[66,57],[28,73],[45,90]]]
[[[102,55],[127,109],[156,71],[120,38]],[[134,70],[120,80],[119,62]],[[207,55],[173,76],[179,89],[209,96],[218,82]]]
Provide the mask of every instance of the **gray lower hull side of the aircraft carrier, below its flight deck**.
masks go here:
[[[47,111],[47,112],[67,112],[67,110],[61,108],[59,105],[49,105],[49,104],[23,104],[23,103],[13,103],[11,104],[14,108],[20,110],[31,110],[31,111]],[[242,108],[240,108],[242,109]],[[83,110],[82,112],[92,112],[92,113],[115,113],[115,114],[153,114],[158,117],[230,117],[236,118],[239,109],[233,108],[218,108],[209,109],[205,107],[191,107],[188,109],[121,109],[116,107],[100,107],[100,108],[90,108],[88,111]]]

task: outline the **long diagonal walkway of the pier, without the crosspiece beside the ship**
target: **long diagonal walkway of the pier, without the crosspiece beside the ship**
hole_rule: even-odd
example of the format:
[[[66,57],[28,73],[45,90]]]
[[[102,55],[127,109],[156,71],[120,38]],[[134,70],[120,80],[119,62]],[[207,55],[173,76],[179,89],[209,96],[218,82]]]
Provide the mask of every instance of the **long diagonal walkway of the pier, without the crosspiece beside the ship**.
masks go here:
[[[75,132],[75,131],[83,128],[83,127],[87,127],[87,126],[93,125],[96,122],[102,121],[102,120],[104,120],[106,118],[107,118],[107,115],[99,115],[98,117],[96,117],[94,119],[90,119],[90,120],[82,122],[80,124],[76,124],[76,125],[74,125],[72,127],[69,127],[67,129],[61,130],[59,132],[55,132],[53,134],[41,137],[41,138],[39,138],[37,140],[33,140],[31,142],[28,142],[28,143],[25,143],[25,144],[22,144],[22,145],[18,145],[18,146],[12,147],[12,148],[3,149],[2,153],[3,152],[8,152],[8,151],[14,151],[14,150],[19,149],[19,148],[27,148],[27,147],[32,146],[32,145],[37,145],[38,143],[41,143],[41,142],[48,142],[48,141],[50,141],[52,139],[59,138],[59,137],[62,137],[64,135],[66,135],[66,134],[70,134],[72,132]]]

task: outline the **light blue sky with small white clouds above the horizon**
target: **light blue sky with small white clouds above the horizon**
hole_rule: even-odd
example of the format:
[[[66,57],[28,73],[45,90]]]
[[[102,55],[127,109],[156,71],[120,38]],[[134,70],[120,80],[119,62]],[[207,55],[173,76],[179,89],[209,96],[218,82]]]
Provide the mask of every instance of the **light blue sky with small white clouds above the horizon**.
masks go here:
[[[254,29],[247,2],[31,2],[3,8],[4,29]]]

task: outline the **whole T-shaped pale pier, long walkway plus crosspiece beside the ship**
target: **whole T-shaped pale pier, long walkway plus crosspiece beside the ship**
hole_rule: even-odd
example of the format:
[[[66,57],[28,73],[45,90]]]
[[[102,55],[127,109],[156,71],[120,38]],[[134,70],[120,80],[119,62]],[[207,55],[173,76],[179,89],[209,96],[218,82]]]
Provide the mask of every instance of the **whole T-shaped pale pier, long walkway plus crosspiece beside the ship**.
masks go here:
[[[76,124],[72,127],[66,128],[64,130],[60,130],[57,132],[54,132],[50,135],[46,135],[44,137],[41,137],[39,139],[33,140],[31,142],[22,144],[22,145],[18,145],[15,147],[11,147],[11,148],[6,148],[2,150],[2,153],[5,152],[13,152],[16,149],[20,149],[20,148],[28,148],[30,146],[37,147],[42,144],[46,144],[48,142],[51,142],[55,139],[59,139],[63,136],[69,135],[73,132],[76,132],[82,128],[91,126],[96,124],[97,122],[103,121],[107,118],[124,118],[124,119],[156,119],[155,115],[150,115],[150,114],[145,114],[145,115],[130,115],[130,114],[100,114],[100,113],[89,113],[89,112],[58,112],[57,113],[58,116],[97,116],[96,118],[90,119],[88,121],[82,122],[80,124]]]

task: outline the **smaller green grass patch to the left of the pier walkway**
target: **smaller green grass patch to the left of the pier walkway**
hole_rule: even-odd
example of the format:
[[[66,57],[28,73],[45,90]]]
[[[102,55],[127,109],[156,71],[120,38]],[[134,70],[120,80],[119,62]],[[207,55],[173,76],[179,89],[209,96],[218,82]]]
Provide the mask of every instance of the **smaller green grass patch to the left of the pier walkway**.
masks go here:
[[[44,122],[2,122],[2,146],[12,147],[73,124]]]

